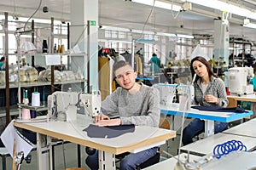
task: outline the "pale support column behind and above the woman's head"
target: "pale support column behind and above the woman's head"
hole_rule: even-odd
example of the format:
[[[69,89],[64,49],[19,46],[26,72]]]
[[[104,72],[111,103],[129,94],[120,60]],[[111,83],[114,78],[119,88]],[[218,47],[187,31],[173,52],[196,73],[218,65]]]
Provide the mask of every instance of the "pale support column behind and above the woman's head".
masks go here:
[[[214,20],[214,59],[222,59],[229,65],[230,26],[222,20]]]

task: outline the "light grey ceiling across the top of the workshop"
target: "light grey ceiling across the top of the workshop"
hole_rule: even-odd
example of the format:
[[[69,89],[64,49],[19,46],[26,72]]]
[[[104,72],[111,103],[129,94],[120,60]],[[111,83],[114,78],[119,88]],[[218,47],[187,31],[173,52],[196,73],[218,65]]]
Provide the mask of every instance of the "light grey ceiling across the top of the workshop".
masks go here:
[[[183,4],[185,0],[167,0],[176,4]],[[228,0],[226,0],[228,1]],[[229,0],[231,1],[231,0]],[[40,0],[1,0],[0,13],[8,12],[12,16],[29,17],[38,8]],[[35,18],[68,21],[70,19],[71,0],[43,0]],[[207,1],[206,1],[207,2]],[[255,0],[232,0],[233,3],[242,3],[253,10],[256,8]],[[43,7],[49,8],[43,13]],[[163,8],[153,8],[130,0],[99,0],[99,25],[119,26],[125,28],[143,29],[147,31],[160,31],[181,34],[196,34],[202,37],[211,37],[214,33],[214,20],[222,16],[221,11],[204,8],[192,4],[192,10],[177,14],[175,11]],[[150,14],[150,16],[149,16]],[[177,17],[175,17],[177,15]],[[148,18],[149,16],[149,18]],[[146,20],[148,21],[146,23]],[[256,42],[255,29],[241,26],[242,17],[232,15],[230,21],[230,37],[243,37]],[[251,20],[256,23],[256,20]]]

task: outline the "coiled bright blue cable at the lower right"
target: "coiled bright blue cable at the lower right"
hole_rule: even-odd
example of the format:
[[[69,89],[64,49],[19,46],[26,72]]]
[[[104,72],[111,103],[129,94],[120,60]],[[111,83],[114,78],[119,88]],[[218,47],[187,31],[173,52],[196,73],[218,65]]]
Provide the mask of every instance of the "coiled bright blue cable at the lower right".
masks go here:
[[[217,144],[213,148],[213,156],[220,159],[221,156],[228,155],[231,151],[236,150],[247,151],[247,147],[240,140],[230,140],[224,144]]]

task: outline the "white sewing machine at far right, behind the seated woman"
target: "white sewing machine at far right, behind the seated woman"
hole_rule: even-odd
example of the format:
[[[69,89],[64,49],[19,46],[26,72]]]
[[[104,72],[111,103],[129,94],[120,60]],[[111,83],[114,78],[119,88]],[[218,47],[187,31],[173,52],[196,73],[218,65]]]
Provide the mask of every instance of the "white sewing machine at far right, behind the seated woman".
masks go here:
[[[247,80],[253,77],[252,67],[234,67],[228,70],[230,94],[253,94],[253,85],[247,85]]]

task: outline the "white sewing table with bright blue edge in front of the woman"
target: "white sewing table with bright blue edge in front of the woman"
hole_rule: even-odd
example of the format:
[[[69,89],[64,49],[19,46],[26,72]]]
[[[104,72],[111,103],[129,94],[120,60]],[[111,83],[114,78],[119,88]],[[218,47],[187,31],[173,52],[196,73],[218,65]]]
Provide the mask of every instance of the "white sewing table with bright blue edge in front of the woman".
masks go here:
[[[172,103],[171,105],[160,105],[161,114],[172,116],[183,116],[183,111],[179,111],[179,104]],[[200,111],[192,109],[185,112],[184,116],[193,117],[205,120],[205,137],[214,134],[214,121],[218,122],[233,122],[243,117],[253,115],[253,111],[243,113],[236,112],[217,112],[217,111]]]

